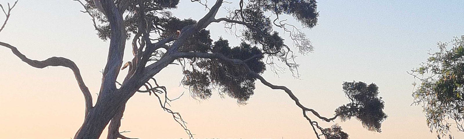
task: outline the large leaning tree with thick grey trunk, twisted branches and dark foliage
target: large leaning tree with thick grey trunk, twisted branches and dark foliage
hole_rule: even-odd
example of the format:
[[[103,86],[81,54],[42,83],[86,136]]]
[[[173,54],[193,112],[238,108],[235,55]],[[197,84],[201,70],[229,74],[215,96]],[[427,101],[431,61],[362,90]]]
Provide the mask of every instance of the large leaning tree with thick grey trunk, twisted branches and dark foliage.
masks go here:
[[[166,106],[169,101],[167,88],[156,82],[155,76],[169,64],[179,64],[185,77],[182,83],[189,87],[191,95],[199,99],[211,96],[212,88],[219,88],[220,94],[237,99],[245,104],[254,94],[255,82],[259,80],[272,89],[284,90],[300,107],[303,116],[309,121],[317,138],[347,139],[338,125],[322,128],[309,119],[308,113],[326,122],[337,117],[348,120],[355,117],[371,131],[380,132],[380,124],[387,118],[383,113],[383,101],[377,97],[374,84],[346,82],[343,84],[346,96],[351,103],[336,109],[335,116],[326,118],[316,110],[304,107],[298,98],[285,86],[273,85],[261,74],[266,68],[276,72],[284,63],[298,76],[295,54],[307,54],[313,50],[309,39],[295,25],[285,23],[280,15],[287,14],[298,20],[303,27],[316,26],[319,13],[315,0],[239,0],[226,2],[216,0],[213,6],[206,1],[191,0],[205,6],[209,12],[199,20],[178,19],[169,11],[175,9],[179,0],[75,0],[84,6],[84,13],[90,15],[97,35],[109,40],[108,61],[103,70],[103,79],[96,104],[92,104],[89,89],[85,86],[76,64],[63,57],[51,57],[44,61],[28,59],[16,47],[0,42],[10,48],[17,57],[36,68],[64,66],[76,76],[84,94],[85,118],[77,131],[75,139],[97,139],[105,126],[109,125],[107,139],[128,139],[119,132],[126,102],[136,92],[155,95],[161,107],[173,114],[193,139],[179,113]],[[235,3],[237,2],[237,3]],[[229,10],[228,16],[216,18],[219,8],[224,4],[238,6]],[[268,15],[273,15],[271,19]],[[9,12],[8,15],[9,16]],[[6,22],[5,22],[6,23]],[[238,46],[231,46],[225,38],[213,40],[206,27],[213,23],[224,23],[226,31],[233,32],[242,40]],[[293,47],[284,44],[284,39],[273,27],[282,29],[293,40]],[[126,40],[132,38],[133,59],[123,63],[123,50]],[[268,66],[268,67],[266,67]],[[122,82],[116,77],[120,70],[127,75]]]

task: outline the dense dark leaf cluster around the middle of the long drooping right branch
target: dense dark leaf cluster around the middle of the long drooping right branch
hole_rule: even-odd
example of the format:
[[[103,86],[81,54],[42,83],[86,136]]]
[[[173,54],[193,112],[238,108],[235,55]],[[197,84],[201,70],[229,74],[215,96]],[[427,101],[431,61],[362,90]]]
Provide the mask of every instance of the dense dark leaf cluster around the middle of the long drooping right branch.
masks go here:
[[[242,43],[231,48],[227,40],[220,38],[214,42],[211,52],[220,53],[228,58],[243,60],[254,72],[262,73],[265,70],[261,51],[256,47],[251,47],[250,44]],[[197,90],[207,89],[206,93],[192,91],[193,96],[200,96],[199,98],[205,99],[211,95],[212,88],[219,88],[220,94],[229,95],[237,99],[238,103],[245,104],[245,101],[254,94],[256,78],[249,76],[244,66],[218,59],[192,58],[191,60],[192,67],[194,67],[193,71],[186,70],[184,73],[189,78],[195,78],[195,82],[188,82],[192,81],[192,79],[184,80],[184,85],[200,88]],[[205,77],[208,79],[204,79]]]

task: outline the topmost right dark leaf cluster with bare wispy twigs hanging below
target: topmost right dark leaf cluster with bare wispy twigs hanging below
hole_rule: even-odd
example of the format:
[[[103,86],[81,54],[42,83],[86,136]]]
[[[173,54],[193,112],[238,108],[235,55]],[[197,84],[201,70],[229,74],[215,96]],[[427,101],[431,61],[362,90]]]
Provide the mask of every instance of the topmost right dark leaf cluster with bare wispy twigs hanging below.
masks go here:
[[[236,24],[243,25],[245,28],[241,30],[240,38],[258,46],[266,56],[269,56],[267,58],[272,62],[268,64],[274,72],[276,69],[281,70],[274,65],[274,60],[277,59],[290,69],[292,75],[299,76],[293,50],[284,44],[284,39],[273,30],[273,27],[279,27],[289,33],[298,52],[307,54],[313,50],[309,39],[294,25],[284,23],[286,19],[279,19],[279,15],[292,15],[303,26],[312,28],[316,26],[319,16],[316,8],[315,0],[250,0],[246,4],[240,1],[240,9],[230,11],[228,18],[235,22],[230,24],[229,29],[232,31],[232,26]],[[272,16],[268,13],[277,16],[276,19],[271,19]]]

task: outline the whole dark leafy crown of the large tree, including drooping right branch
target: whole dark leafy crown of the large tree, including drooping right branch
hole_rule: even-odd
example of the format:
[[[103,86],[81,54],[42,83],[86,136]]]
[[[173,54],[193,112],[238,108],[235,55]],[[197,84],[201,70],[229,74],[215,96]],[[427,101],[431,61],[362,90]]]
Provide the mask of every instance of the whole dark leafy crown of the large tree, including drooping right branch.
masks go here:
[[[86,1],[84,7],[94,20],[98,37],[103,40],[109,39],[110,23],[105,18],[105,13],[98,9],[98,3],[94,2],[98,0]],[[206,6],[200,0],[191,1]],[[224,3],[218,0],[215,6],[218,2]],[[182,57],[175,57],[173,61],[181,65],[184,74],[182,84],[190,89],[194,98],[208,99],[212,95],[212,89],[219,88],[220,95],[228,95],[237,99],[239,104],[245,104],[254,94],[255,82],[259,79],[264,85],[284,90],[290,95],[296,105],[302,108],[303,116],[309,120],[319,139],[322,135],[326,139],[348,139],[348,134],[342,132],[342,128],[336,124],[330,128],[320,127],[316,121],[310,120],[306,115],[307,112],[312,112],[319,119],[327,122],[337,117],[343,121],[355,117],[361,120],[362,125],[368,130],[381,132],[381,123],[387,115],[383,112],[384,102],[378,97],[378,87],[375,84],[343,83],[344,93],[350,103],[338,107],[333,118],[326,118],[315,110],[304,107],[290,89],[272,85],[260,76],[266,69],[271,69],[275,73],[284,69],[277,63],[283,63],[293,76],[298,76],[298,64],[294,60],[296,56],[293,51],[304,55],[313,51],[313,46],[303,32],[295,25],[286,23],[286,19],[280,19],[280,15],[293,16],[303,27],[315,27],[319,16],[315,0],[240,0],[239,7],[228,10],[226,17],[216,19],[213,16],[213,19],[206,19],[208,21],[175,17],[170,10],[177,7],[179,0],[115,0],[115,4],[119,7],[127,6],[123,8],[125,35],[127,38],[134,36],[135,50],[140,46],[140,49],[134,52],[135,60],[132,62],[137,63],[140,59],[142,66],[145,66],[162,61],[167,56],[174,57],[176,55],[169,54],[177,53]],[[210,9],[206,6],[206,8],[216,12],[218,10],[218,7]],[[214,12],[213,14],[215,15]],[[200,25],[205,22],[209,23]],[[238,45],[230,45],[226,38],[219,37],[213,40],[211,31],[206,27],[214,22],[224,23],[225,30],[232,32],[242,42]],[[280,35],[284,33],[276,31],[274,29],[276,27],[289,35],[294,47],[284,44],[284,38]],[[237,33],[236,30],[239,32]],[[183,33],[189,34],[187,38],[182,37]],[[163,40],[168,41],[151,50],[152,46],[149,45],[154,44],[151,41],[158,41],[157,44]],[[143,49],[144,45],[146,45],[145,49]],[[158,50],[159,48],[163,49]],[[148,50],[153,51],[148,52],[151,52],[148,58],[145,54],[140,56],[139,52],[147,53]],[[143,63],[144,60],[148,63]],[[148,90],[150,89],[147,87]]]

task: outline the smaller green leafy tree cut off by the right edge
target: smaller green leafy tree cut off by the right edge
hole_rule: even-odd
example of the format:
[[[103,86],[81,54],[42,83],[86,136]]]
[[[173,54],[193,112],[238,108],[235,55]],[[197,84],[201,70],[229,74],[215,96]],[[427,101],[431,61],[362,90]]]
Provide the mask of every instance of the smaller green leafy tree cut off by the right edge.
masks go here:
[[[437,45],[439,51],[429,51],[427,61],[408,74],[419,80],[413,83],[419,83],[412,92],[413,104],[424,108],[430,131],[451,138],[452,126],[464,132],[464,35]]]

